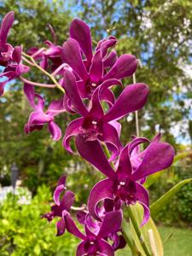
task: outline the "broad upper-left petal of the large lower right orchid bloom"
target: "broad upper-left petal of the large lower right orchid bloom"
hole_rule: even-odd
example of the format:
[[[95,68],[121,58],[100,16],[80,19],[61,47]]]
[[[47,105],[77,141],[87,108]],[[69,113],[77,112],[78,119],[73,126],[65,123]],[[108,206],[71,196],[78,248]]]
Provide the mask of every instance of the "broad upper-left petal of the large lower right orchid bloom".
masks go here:
[[[110,177],[111,179],[116,178],[115,172],[108,163],[108,159],[98,141],[86,141],[83,136],[77,136],[75,143],[79,154],[85,160],[89,161],[91,165],[95,166],[107,177]]]

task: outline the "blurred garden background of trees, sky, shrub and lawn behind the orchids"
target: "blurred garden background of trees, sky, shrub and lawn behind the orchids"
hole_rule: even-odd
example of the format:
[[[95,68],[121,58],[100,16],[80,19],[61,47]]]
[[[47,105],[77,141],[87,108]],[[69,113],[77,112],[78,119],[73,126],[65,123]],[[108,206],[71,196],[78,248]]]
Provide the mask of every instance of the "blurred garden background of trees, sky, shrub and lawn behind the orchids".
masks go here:
[[[136,55],[143,67],[137,81],[150,87],[148,104],[139,111],[140,133],[153,138],[162,133],[179,157],[153,184],[148,185],[151,202],[183,178],[192,177],[192,2],[190,0],[108,0],[108,1],[0,1],[0,19],[15,11],[9,41],[25,50],[44,46],[51,40],[48,23],[57,44],[69,36],[69,24],[79,17],[91,27],[98,41],[113,35],[119,39],[119,55]],[[44,82],[37,70],[33,81]],[[125,84],[131,84],[126,79]],[[77,240],[70,235],[55,237],[55,222],[40,216],[49,212],[57,179],[66,174],[67,187],[76,193],[76,206],[87,200],[90,188],[101,174],[79,158],[67,154],[61,141],[49,138],[46,128],[26,136],[23,127],[31,111],[22,84],[14,81],[0,99],[0,255],[74,255]],[[38,90],[39,92],[42,90]],[[59,98],[57,90],[43,91],[47,102]],[[118,90],[115,91],[119,93]],[[61,114],[62,131],[72,119]],[[122,119],[122,142],[135,135],[135,117]],[[15,194],[11,188],[13,165],[19,170]],[[11,168],[12,166],[12,168]],[[181,189],[169,204],[153,216],[160,228],[166,256],[192,255],[192,183]],[[118,255],[128,255],[128,249]]]

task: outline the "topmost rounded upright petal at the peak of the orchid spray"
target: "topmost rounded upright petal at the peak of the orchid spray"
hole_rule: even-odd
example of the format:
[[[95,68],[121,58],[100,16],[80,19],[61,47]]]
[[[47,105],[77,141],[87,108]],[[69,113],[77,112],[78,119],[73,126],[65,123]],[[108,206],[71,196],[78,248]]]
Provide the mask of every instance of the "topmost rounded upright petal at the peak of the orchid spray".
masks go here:
[[[83,20],[74,19],[70,26],[71,38],[78,41],[88,61],[92,59],[90,27]]]

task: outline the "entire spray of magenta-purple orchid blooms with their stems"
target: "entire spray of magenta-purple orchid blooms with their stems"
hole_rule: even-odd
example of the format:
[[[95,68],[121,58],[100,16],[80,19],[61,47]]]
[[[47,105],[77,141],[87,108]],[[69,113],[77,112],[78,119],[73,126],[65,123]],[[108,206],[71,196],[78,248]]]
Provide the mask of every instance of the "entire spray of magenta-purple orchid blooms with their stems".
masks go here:
[[[56,44],[55,32],[50,26],[54,43],[46,41],[45,48],[33,47],[28,54],[21,47],[7,44],[7,36],[14,22],[14,13],[3,19],[0,30],[0,62],[5,67],[1,77],[0,92],[10,79],[25,81],[24,93],[32,106],[32,113],[25,125],[25,132],[43,129],[48,125],[53,140],[61,138],[61,128],[55,123],[55,116],[67,112],[77,117],[67,125],[63,136],[63,147],[73,154],[70,146],[74,137],[79,154],[106,178],[90,190],[87,206],[73,207],[74,193],[67,190],[66,177],[61,177],[54,193],[55,205],[42,217],[56,223],[57,236],[65,230],[78,237],[81,242],[77,255],[114,255],[114,251],[125,247],[121,234],[123,207],[137,202],[143,206],[143,222],[150,217],[148,191],[144,188],[146,177],[172,165],[174,150],[168,143],[160,142],[160,134],[152,141],[144,137],[132,137],[125,146],[120,142],[119,119],[135,112],[145,105],[148,85],[129,84],[116,98],[113,86],[123,87],[122,79],[131,77],[137,69],[133,55],[118,56],[114,49],[117,39],[113,36],[102,39],[93,50],[90,27],[75,19],[70,26],[70,38],[62,46]],[[30,68],[23,60],[49,73],[55,84],[39,84],[24,79],[21,75]],[[55,80],[55,76],[58,82]],[[43,96],[35,93],[36,85],[58,87],[65,91],[59,100],[49,103],[44,110]],[[142,150],[142,144],[147,147]],[[104,150],[105,149],[105,150]],[[106,150],[110,157],[105,154]],[[78,210],[77,220],[84,226],[84,233],[73,220],[73,210]]]

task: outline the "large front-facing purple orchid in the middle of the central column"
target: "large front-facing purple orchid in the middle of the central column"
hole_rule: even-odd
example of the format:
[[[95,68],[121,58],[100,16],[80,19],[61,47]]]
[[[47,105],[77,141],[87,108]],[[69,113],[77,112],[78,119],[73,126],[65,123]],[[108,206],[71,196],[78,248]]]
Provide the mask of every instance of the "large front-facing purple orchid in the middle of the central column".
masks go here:
[[[100,140],[110,145],[110,150],[113,153],[110,160],[113,160],[119,154],[121,143],[119,142],[119,123],[116,120],[143,108],[148,97],[148,86],[146,84],[126,86],[113,107],[109,109],[108,113],[104,113],[101,105],[102,93],[113,84],[120,84],[120,82],[116,79],[108,79],[97,87],[91,98],[90,109],[88,109],[85,108],[79,95],[75,76],[73,73],[66,71],[64,75],[66,94],[75,111],[82,116],[68,125],[63,138],[63,146],[69,152],[73,153],[69,144],[71,137],[82,134],[87,141]]]

